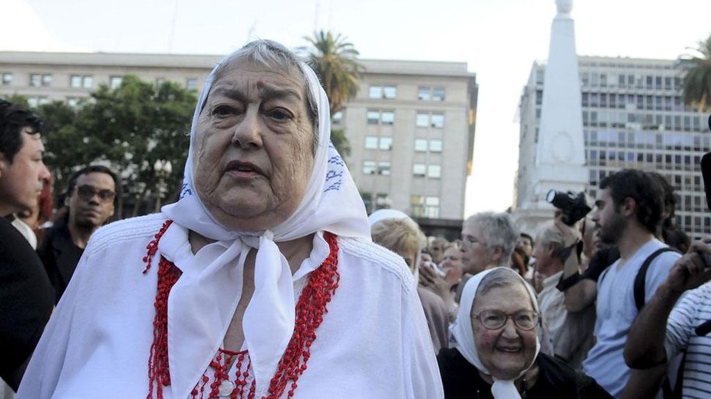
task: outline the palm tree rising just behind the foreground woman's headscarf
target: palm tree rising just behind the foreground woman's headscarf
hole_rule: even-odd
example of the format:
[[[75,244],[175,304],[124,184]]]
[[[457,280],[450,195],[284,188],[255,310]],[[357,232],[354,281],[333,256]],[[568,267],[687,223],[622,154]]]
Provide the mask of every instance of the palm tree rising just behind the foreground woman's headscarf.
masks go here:
[[[311,46],[302,47],[311,68],[321,79],[331,116],[340,111],[343,102],[355,97],[358,92],[358,78],[365,70],[358,63],[358,50],[341,33],[335,36],[331,31],[315,31],[314,36],[304,36]]]

